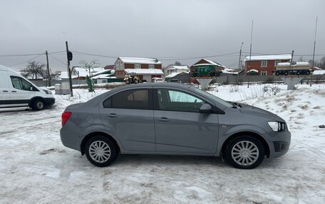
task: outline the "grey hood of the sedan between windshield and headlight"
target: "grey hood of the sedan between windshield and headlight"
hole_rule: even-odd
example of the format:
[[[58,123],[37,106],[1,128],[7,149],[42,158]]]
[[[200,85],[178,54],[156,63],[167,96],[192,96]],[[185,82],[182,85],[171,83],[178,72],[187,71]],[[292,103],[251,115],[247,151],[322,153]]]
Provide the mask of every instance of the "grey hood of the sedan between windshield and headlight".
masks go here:
[[[268,118],[277,122],[285,122],[284,119],[277,116],[277,114],[274,114],[267,110],[254,107],[249,104],[243,104],[243,103],[235,103],[235,104],[237,104],[237,107],[239,107],[239,111],[242,112],[242,114],[255,115],[257,117]]]

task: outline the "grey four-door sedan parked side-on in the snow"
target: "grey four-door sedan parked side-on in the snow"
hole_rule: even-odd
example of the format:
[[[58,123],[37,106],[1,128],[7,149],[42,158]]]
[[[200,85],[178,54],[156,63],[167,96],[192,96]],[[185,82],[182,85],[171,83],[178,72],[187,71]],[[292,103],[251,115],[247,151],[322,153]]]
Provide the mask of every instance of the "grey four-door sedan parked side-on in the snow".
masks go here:
[[[226,102],[192,85],[126,85],[62,114],[61,141],[96,166],[118,154],[222,157],[255,168],[265,156],[287,153],[291,134],[276,114]]]

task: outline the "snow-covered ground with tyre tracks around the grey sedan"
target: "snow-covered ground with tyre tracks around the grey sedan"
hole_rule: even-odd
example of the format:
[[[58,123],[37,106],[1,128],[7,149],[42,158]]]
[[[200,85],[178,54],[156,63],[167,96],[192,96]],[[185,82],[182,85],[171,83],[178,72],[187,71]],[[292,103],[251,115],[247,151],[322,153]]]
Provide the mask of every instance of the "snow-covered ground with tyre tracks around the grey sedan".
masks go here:
[[[120,155],[107,168],[93,166],[61,144],[61,113],[107,90],[56,95],[54,107],[41,112],[0,109],[0,203],[325,203],[325,85],[286,89],[210,90],[289,124],[289,152],[253,170],[198,156]]]

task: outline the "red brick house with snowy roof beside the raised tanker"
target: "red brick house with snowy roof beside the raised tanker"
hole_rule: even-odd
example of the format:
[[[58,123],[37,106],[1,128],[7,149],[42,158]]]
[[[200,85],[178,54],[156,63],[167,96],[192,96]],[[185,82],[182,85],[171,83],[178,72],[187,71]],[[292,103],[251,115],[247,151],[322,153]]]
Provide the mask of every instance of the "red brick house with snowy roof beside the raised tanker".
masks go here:
[[[289,63],[292,55],[256,55],[251,56],[249,67],[249,56],[244,59],[245,75],[273,75],[278,63]]]

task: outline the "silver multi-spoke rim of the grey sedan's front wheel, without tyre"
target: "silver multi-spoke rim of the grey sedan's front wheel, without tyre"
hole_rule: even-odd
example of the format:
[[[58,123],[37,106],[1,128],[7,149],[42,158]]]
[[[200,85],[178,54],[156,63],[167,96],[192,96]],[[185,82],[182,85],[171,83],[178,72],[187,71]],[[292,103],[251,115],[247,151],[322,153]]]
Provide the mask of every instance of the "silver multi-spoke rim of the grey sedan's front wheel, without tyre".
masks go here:
[[[232,159],[239,165],[252,165],[258,158],[259,149],[252,141],[239,141],[232,147]]]

